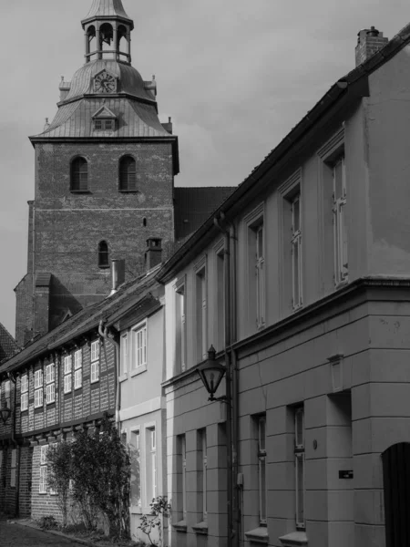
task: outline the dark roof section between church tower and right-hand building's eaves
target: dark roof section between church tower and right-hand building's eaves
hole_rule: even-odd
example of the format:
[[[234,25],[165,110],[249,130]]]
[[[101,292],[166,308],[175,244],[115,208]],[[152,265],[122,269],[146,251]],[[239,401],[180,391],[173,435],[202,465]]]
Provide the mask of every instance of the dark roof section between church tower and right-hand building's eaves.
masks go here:
[[[186,238],[205,222],[236,187],[175,188],[175,237]]]

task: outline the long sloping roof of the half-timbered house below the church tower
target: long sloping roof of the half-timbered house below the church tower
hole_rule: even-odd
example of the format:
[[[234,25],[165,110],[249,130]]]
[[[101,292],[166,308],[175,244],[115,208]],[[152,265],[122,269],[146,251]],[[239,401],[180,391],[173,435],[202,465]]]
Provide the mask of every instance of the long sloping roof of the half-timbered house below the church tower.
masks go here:
[[[138,279],[123,284],[116,294],[108,296],[108,298],[97,304],[93,304],[69,317],[54,330],[36,339],[32,344],[5,361],[0,366],[0,373],[24,366],[39,356],[64,346],[77,336],[87,334],[87,332],[97,328],[101,320],[107,321],[111,315],[115,315],[122,307],[124,313],[126,313],[132,305],[138,303],[140,299],[149,294],[150,290],[154,290],[158,286],[158,282],[155,280],[157,273],[158,270],[154,270],[148,275],[140,276]],[[150,299],[150,302],[152,302],[152,299]]]

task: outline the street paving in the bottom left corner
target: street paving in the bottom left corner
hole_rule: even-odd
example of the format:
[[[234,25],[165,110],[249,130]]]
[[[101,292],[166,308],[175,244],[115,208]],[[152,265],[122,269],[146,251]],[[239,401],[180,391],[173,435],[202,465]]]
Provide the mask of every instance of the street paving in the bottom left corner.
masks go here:
[[[0,547],[84,547],[51,533],[0,521]]]

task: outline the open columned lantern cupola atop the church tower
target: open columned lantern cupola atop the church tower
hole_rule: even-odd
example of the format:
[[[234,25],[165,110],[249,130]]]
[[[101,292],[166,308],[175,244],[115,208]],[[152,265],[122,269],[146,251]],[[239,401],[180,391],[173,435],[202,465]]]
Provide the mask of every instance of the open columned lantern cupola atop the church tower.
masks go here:
[[[93,0],[85,30],[86,63],[97,59],[115,59],[131,63],[131,31],[134,22],[121,0]]]

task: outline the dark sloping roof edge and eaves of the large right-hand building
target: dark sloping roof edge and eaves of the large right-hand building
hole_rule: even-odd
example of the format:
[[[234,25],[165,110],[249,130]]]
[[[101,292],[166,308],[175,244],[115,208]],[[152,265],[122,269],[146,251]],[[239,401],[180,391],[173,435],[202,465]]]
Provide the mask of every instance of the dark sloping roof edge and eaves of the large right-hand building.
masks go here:
[[[379,67],[382,67],[389,59],[395,57],[405,46],[410,43],[410,24],[405,26],[384,47],[379,49],[372,57],[369,57],[362,65],[355,67],[344,77],[338,79],[332,88],[323,95],[312,110],[286,135],[261,163],[252,170],[251,174],[236,188],[231,195],[220,204],[217,211],[200,226],[197,232],[179,247],[167,263],[161,268],[157,278],[160,283],[169,281],[172,275],[179,271],[186,263],[189,263],[195,253],[204,245],[216,237],[217,232],[213,219],[220,213],[231,218],[241,211],[246,203],[256,195],[256,191],[263,190],[263,175],[269,170],[270,174],[280,170],[285,162],[292,159],[292,155],[302,147],[304,142],[310,139],[313,130],[317,129],[325,116],[328,116],[336,108],[348,106],[359,98],[368,97],[368,77]],[[266,182],[264,182],[266,184]],[[250,195],[250,192],[252,192]]]

